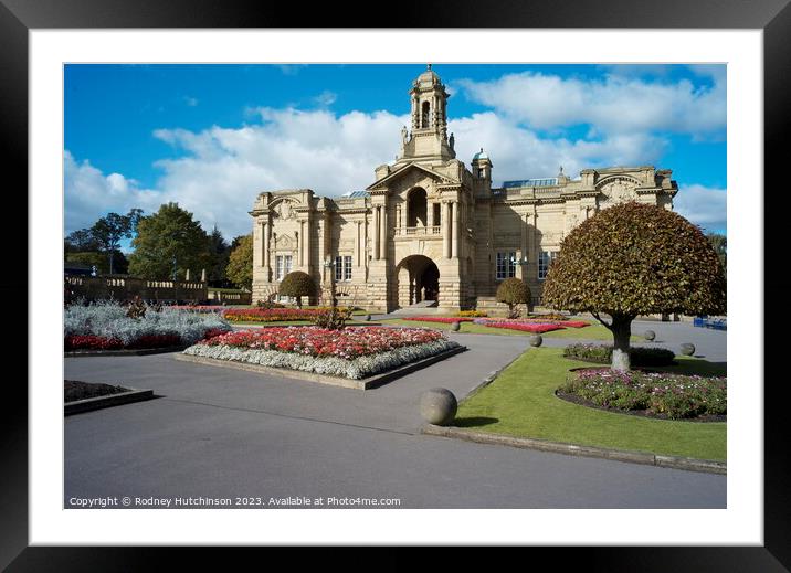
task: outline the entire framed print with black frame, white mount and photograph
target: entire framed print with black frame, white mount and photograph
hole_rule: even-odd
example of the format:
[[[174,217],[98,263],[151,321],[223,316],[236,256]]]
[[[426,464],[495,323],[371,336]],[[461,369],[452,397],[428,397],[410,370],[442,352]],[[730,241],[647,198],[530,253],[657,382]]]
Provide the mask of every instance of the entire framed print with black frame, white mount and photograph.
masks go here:
[[[763,190],[782,189],[791,9],[605,4],[422,4],[349,29],[324,8],[2,0],[3,140],[28,189],[9,198],[30,225],[27,291],[6,278],[8,344],[23,320],[30,336],[28,392],[9,384],[2,564],[150,558],[96,545],[487,544],[589,545],[568,554],[614,571],[788,567],[784,396],[766,381],[782,311],[763,309],[785,293],[764,274],[784,244],[764,230],[785,210]],[[705,290],[707,306],[641,307],[625,346],[612,306],[552,288],[567,238],[619,205],[683,219],[673,256],[698,235],[714,253],[700,227],[730,235],[730,329],[725,275],[703,286],[706,264],[725,268],[715,255],[674,295]],[[171,252],[175,221],[220,246]],[[105,269],[87,255],[110,223],[126,227],[96,246]],[[580,248],[574,277],[608,247]],[[307,286],[286,287],[299,273]],[[513,304],[509,280],[528,289]],[[83,298],[62,320],[70,297]],[[92,297],[126,301],[103,303],[113,333],[80,318]],[[561,349],[613,336],[615,372],[637,360],[630,343],[675,350],[677,372],[634,370],[672,400],[624,415],[574,397],[599,374]],[[726,364],[729,427],[697,397],[725,395]],[[536,390],[553,368],[563,380]],[[286,378],[256,382],[272,369]],[[61,371],[152,400],[62,417]],[[515,390],[524,380],[534,390]]]

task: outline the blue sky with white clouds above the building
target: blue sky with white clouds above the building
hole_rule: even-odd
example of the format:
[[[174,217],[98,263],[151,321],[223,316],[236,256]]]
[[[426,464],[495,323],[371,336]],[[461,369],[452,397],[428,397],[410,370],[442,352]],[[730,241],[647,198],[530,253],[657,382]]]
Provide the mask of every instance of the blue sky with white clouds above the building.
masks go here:
[[[424,64],[67,64],[64,230],[178,202],[230,242],[262,191],[337,197],[373,182],[409,126]],[[495,185],[653,165],[674,209],[726,222],[725,65],[434,64],[467,167],[484,148]],[[128,244],[125,245],[128,250]]]

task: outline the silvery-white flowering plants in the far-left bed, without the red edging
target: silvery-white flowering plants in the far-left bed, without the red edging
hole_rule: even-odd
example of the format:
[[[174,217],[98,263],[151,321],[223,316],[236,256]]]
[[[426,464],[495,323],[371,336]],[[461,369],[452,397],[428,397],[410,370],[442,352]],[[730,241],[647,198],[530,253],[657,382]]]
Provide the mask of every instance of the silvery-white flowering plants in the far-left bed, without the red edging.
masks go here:
[[[99,301],[86,307],[72,305],[64,311],[64,337],[119,338],[124,344],[129,344],[144,336],[176,335],[184,344],[193,344],[207,330],[231,330],[226,320],[213,314],[165,307],[159,312],[149,308],[143,318],[129,318],[126,311],[126,307],[115,301]]]

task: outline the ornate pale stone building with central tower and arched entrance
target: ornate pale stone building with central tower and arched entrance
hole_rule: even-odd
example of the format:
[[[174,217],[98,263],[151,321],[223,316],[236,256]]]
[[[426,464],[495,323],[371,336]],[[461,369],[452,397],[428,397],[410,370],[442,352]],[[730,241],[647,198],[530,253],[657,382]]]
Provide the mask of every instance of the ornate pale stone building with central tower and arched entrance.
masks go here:
[[[578,179],[506,181],[481,149],[470,168],[447,134],[449,94],[431,66],[412,83],[411,129],[392,165],[375,169],[365,191],[340,198],[310,189],[266,191],[250,214],[253,300],[276,293],[292,270],[330,285],[339,299],[391,311],[436,301],[445,309],[486,306],[498,284],[525,279],[540,300],[547,269],[571,229],[622,201],[673,208],[669,170],[584,169]]]

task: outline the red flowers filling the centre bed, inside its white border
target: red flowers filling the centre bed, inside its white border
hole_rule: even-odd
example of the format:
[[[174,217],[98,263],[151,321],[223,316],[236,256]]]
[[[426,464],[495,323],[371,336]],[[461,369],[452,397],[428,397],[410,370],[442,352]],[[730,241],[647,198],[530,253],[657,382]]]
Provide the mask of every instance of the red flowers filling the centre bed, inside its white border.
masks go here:
[[[318,327],[274,327],[226,332],[199,342],[245,349],[277,350],[312,357],[351,360],[396,348],[442,340],[442,332],[418,328],[350,327],[327,330]]]

